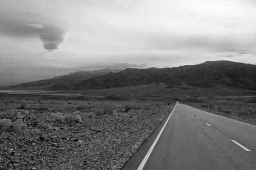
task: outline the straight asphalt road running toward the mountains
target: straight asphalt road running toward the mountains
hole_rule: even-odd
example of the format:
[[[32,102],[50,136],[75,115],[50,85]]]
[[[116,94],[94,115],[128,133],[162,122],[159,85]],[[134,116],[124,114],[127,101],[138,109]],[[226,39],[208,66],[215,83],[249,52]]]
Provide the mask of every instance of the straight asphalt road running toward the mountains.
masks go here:
[[[123,169],[256,169],[256,126],[177,103]]]

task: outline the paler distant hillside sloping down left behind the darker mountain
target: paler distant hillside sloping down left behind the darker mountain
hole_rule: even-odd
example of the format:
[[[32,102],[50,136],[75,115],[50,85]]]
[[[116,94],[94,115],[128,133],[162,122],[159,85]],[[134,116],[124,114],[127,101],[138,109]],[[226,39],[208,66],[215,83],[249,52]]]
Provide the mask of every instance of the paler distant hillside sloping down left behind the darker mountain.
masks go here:
[[[29,83],[22,83],[15,87],[49,87],[51,90],[68,90],[70,85],[80,80],[86,80],[96,76],[102,76],[104,74],[113,72],[116,73],[122,71],[122,69],[99,69],[93,71],[76,71],[63,76],[55,76],[51,79],[33,81]]]

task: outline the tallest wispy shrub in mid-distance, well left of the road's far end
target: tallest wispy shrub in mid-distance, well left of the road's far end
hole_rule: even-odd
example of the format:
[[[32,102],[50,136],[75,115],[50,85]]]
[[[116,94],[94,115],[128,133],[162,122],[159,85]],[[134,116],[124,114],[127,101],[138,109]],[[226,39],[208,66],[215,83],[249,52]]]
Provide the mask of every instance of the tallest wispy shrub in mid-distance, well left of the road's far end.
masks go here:
[[[113,103],[97,103],[94,106],[94,113],[97,116],[111,115],[115,109],[116,105]]]

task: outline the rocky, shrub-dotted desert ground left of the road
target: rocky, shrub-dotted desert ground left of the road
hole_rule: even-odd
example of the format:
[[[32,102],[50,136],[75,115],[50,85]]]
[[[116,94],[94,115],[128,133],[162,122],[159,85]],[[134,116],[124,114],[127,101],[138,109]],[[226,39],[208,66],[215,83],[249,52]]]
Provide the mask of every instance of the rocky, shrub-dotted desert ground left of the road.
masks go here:
[[[173,104],[113,103],[2,99],[0,119],[26,128],[0,122],[0,169],[120,169]]]

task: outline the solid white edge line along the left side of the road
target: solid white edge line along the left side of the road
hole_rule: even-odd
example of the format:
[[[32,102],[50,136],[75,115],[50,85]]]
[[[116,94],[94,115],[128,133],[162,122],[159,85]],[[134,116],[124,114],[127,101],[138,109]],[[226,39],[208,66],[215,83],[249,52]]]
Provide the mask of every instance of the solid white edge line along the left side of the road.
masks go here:
[[[176,103],[176,104],[177,104],[177,103]],[[173,111],[175,110],[176,104],[175,104],[175,106],[174,106],[174,108],[173,108],[173,110],[172,110],[172,113],[173,113]],[[145,155],[144,159],[141,161],[140,166],[138,167],[137,170],[142,170],[143,167],[145,166],[145,164],[146,164],[146,162],[147,162],[147,160],[148,160],[148,158],[149,158],[151,152],[153,151],[154,147],[156,146],[156,143],[157,143],[158,139],[160,138],[160,136],[161,136],[161,134],[162,134],[162,132],[163,132],[163,130],[164,130],[164,127],[166,126],[166,124],[168,123],[170,117],[172,116],[172,113],[171,113],[171,115],[168,117],[168,119],[166,120],[166,122],[165,122],[165,124],[163,125],[161,131],[160,131],[159,134],[157,135],[157,137],[156,137],[154,143],[153,143],[153,144],[151,145],[151,147],[149,148],[147,154]]]

